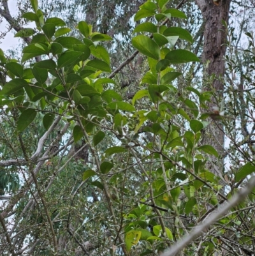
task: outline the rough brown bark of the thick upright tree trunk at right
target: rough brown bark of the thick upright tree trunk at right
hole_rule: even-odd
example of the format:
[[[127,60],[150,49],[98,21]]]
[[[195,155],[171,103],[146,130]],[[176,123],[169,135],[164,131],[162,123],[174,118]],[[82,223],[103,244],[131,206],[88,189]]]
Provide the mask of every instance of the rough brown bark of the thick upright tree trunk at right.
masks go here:
[[[199,6],[203,19],[205,20],[204,45],[203,45],[203,63],[208,63],[205,70],[205,76],[215,75],[213,82],[214,91],[219,98],[222,96],[224,86],[221,78],[224,76],[224,55],[226,54],[226,29],[222,26],[222,20],[228,24],[228,15],[230,11],[231,0],[221,0],[219,5],[214,4],[213,0],[196,0]],[[205,87],[205,90],[211,89]],[[209,111],[213,106],[217,106],[215,99],[212,98],[212,103],[208,105]],[[219,154],[222,153],[224,146],[224,132],[222,125],[217,121],[212,121],[208,130],[203,137],[203,144],[210,144]],[[212,162],[216,163],[217,159],[212,158]],[[223,163],[223,161],[222,161]],[[219,163],[218,163],[219,164]],[[222,168],[208,167],[211,172],[217,176],[221,176]]]

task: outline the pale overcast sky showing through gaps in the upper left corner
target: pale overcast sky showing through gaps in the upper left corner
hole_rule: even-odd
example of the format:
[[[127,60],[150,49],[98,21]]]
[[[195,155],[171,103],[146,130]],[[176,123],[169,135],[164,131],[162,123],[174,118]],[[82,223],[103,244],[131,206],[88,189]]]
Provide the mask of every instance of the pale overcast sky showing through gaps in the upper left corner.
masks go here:
[[[1,1],[1,0],[0,0]],[[10,9],[10,13],[13,17],[15,17],[15,14],[17,13],[17,1],[15,0],[9,0],[8,1],[8,6]],[[0,23],[0,31],[4,32],[7,31],[8,23],[6,20],[3,18],[2,22]],[[14,38],[15,31],[11,30],[4,38],[0,39],[0,48],[3,51],[6,51],[8,49],[13,49],[16,48],[18,45],[18,41],[20,40],[19,38]]]

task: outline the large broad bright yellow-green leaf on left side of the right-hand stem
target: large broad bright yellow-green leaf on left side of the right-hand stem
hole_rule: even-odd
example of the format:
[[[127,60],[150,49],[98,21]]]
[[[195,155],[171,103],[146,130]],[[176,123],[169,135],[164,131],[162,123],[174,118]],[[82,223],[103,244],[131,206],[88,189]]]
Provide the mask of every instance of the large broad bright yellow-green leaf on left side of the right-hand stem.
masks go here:
[[[143,35],[135,36],[132,38],[132,43],[133,46],[145,56],[152,57],[153,59],[159,59],[159,46],[149,37]]]

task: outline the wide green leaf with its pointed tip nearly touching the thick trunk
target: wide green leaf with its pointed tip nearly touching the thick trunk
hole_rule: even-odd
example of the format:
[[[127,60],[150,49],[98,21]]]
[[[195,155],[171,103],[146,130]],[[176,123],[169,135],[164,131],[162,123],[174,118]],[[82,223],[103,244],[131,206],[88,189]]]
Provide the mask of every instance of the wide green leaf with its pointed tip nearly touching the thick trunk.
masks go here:
[[[172,64],[188,63],[193,61],[200,62],[200,59],[195,54],[182,49],[171,50],[171,52],[166,54],[165,59],[169,59]]]

